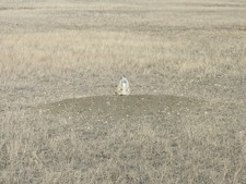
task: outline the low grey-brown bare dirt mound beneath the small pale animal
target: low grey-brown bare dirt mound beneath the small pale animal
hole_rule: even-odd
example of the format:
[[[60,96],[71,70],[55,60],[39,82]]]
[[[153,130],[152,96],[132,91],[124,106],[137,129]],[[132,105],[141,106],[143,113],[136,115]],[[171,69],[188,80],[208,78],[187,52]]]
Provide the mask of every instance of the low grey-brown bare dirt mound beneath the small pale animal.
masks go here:
[[[140,116],[163,113],[181,113],[204,101],[171,95],[94,96],[40,105],[37,108],[58,114],[84,114],[91,116]]]

